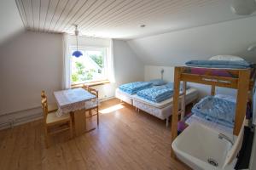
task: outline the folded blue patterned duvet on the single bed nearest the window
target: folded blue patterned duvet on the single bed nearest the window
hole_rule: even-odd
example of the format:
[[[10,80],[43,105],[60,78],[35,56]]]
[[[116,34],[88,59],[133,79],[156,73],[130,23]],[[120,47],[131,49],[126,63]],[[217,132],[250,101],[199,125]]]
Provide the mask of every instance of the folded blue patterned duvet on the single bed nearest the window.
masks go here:
[[[130,82],[119,86],[119,89],[127,94],[136,94],[138,91],[150,88],[151,86],[152,82]]]

